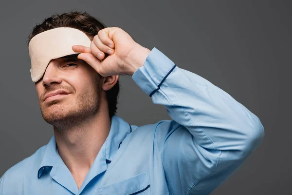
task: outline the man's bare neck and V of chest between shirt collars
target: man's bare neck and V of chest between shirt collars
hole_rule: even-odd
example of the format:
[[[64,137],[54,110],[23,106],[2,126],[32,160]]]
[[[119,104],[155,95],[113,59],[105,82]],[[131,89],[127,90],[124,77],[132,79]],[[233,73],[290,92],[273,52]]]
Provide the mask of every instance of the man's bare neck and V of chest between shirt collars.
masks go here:
[[[100,111],[70,129],[54,126],[58,153],[73,176],[85,178],[109,135],[110,125],[108,112]]]

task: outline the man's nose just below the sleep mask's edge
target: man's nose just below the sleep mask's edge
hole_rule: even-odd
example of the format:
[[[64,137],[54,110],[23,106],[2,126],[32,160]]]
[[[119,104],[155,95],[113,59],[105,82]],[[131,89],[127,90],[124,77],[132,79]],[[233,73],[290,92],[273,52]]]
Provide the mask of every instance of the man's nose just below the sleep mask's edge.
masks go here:
[[[61,83],[62,79],[59,74],[58,64],[55,61],[50,61],[42,79],[42,85],[49,87],[53,84]]]

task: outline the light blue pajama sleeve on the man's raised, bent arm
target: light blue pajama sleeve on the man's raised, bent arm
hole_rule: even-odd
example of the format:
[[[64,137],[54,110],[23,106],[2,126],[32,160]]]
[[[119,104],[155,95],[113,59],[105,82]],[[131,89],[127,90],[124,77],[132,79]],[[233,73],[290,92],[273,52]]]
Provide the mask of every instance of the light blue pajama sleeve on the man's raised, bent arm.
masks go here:
[[[170,194],[214,191],[256,149],[264,127],[256,115],[199,75],[179,68],[157,48],[132,78],[166,107],[157,147]]]

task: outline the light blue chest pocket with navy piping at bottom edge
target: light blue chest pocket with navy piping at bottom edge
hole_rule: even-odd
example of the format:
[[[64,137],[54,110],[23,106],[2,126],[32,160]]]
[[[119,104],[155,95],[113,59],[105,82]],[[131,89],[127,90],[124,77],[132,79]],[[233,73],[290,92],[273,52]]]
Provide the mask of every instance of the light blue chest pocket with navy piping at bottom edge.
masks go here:
[[[98,188],[100,195],[150,195],[148,172]]]

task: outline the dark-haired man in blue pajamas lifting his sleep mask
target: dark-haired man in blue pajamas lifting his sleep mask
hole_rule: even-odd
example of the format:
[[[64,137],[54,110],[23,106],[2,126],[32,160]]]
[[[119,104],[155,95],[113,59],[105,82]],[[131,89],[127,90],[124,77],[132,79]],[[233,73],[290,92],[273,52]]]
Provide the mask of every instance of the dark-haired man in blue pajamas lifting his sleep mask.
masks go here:
[[[226,92],[87,13],[44,20],[29,52],[54,136],[5,172],[0,194],[206,195],[264,137],[259,118]],[[115,115],[125,74],[172,120],[138,127]]]

